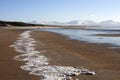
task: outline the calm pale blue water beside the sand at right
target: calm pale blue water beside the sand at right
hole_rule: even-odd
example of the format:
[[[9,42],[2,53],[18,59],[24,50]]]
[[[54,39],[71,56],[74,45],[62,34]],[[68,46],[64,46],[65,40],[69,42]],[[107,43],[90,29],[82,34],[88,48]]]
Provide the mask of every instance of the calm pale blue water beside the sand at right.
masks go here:
[[[118,30],[82,30],[82,29],[40,29],[66,35],[70,39],[86,41],[88,43],[105,43],[120,47],[120,37],[95,36],[96,34],[120,34]]]

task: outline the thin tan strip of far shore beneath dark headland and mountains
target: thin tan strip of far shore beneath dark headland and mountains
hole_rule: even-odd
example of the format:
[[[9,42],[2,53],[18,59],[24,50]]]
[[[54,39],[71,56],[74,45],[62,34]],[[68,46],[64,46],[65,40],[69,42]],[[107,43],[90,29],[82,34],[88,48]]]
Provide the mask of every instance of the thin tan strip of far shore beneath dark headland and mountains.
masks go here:
[[[70,26],[12,26],[12,27],[2,27],[0,29],[41,29],[41,28],[65,28],[65,29],[85,29],[85,30],[106,30],[106,31],[120,31],[120,29],[106,28],[106,27],[92,27],[92,26],[79,26],[79,27],[70,27]]]

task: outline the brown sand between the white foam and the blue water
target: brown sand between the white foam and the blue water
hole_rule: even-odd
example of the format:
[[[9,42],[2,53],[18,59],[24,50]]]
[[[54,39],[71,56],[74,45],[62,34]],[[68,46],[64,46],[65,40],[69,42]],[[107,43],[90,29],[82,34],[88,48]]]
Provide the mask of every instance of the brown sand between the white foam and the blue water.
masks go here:
[[[96,75],[80,75],[80,80],[120,79],[120,49],[108,48],[108,44],[92,44],[69,40],[52,32],[34,31],[37,48],[46,49],[45,56],[53,65],[81,66],[96,71]],[[40,47],[41,46],[41,47]],[[37,50],[38,50],[37,49]]]

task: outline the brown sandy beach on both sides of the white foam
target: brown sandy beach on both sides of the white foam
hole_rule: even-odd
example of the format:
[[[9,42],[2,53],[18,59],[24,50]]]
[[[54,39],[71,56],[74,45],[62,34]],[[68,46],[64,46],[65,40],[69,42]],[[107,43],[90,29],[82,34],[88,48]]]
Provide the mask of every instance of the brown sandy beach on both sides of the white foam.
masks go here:
[[[26,30],[0,29],[1,80],[40,80],[39,76],[30,75],[20,69],[25,63],[14,60],[20,53],[9,47],[23,31]],[[80,80],[120,79],[119,48],[109,48],[108,44],[70,40],[66,36],[47,31],[31,31],[31,37],[37,41],[36,50],[46,50],[43,55],[50,59],[50,65],[85,67],[96,72],[95,75],[75,76]]]

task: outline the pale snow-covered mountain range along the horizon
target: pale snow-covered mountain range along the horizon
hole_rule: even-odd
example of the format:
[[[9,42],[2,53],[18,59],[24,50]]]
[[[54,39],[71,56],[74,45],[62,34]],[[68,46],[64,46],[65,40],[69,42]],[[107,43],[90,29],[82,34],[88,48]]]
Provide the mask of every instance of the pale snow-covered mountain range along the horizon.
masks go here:
[[[36,24],[38,22],[33,21],[32,24]],[[120,26],[120,22],[114,21],[114,20],[106,20],[101,22],[95,22],[92,20],[73,20],[69,22],[57,22],[57,21],[41,21],[39,24],[44,25],[72,25],[72,26],[79,26],[79,25],[85,25],[85,26]]]

